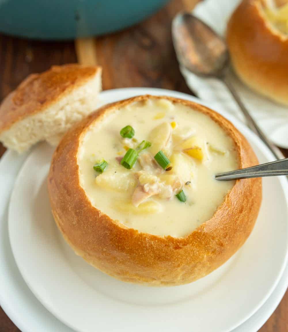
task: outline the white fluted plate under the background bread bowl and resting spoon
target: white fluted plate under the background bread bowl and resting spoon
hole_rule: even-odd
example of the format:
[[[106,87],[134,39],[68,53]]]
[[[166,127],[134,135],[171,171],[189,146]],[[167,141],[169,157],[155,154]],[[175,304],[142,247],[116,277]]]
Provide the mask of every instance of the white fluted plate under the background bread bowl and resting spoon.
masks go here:
[[[193,14],[224,36],[229,17],[241,0],[200,1]],[[215,79],[203,79],[182,70],[187,85],[198,97],[211,103],[221,104],[223,109],[243,120],[243,116],[230,92]],[[281,106],[250,90],[230,73],[230,78],[253,117],[275,144],[288,148],[288,106]]]

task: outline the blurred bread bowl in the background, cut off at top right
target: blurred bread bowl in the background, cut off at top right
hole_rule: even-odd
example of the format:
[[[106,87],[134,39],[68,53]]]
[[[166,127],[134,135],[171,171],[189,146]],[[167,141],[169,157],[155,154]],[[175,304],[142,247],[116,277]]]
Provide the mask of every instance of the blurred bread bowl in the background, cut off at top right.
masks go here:
[[[243,0],[228,23],[227,43],[240,79],[288,105],[288,1]]]

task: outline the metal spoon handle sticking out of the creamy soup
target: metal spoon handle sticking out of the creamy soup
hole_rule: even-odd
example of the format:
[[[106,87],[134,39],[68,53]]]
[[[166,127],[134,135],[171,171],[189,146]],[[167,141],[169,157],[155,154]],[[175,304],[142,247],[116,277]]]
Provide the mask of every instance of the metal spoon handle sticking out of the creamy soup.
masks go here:
[[[288,175],[288,158],[215,175],[216,180],[236,180],[263,176]]]

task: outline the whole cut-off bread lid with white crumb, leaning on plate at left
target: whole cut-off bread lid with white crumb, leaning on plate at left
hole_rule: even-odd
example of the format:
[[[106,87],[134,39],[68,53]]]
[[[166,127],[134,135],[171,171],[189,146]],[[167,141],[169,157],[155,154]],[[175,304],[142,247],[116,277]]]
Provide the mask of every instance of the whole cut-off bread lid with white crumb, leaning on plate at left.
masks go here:
[[[18,152],[41,140],[57,145],[73,124],[96,109],[101,71],[67,64],[29,75],[0,104],[0,141]]]

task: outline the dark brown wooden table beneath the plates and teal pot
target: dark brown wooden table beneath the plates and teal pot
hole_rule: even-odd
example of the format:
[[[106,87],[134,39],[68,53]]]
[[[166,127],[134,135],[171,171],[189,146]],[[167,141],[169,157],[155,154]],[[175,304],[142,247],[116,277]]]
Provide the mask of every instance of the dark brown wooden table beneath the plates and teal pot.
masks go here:
[[[103,67],[105,90],[137,86],[191,93],[179,72],[170,27],[177,12],[191,10],[196,2],[173,0],[141,24],[95,40],[43,42],[0,35],[0,101],[28,74],[77,60]],[[0,156],[4,151],[0,146]],[[287,150],[283,152],[288,156]],[[0,308],[0,332],[16,331],[20,330]],[[288,292],[260,331],[288,332]]]

